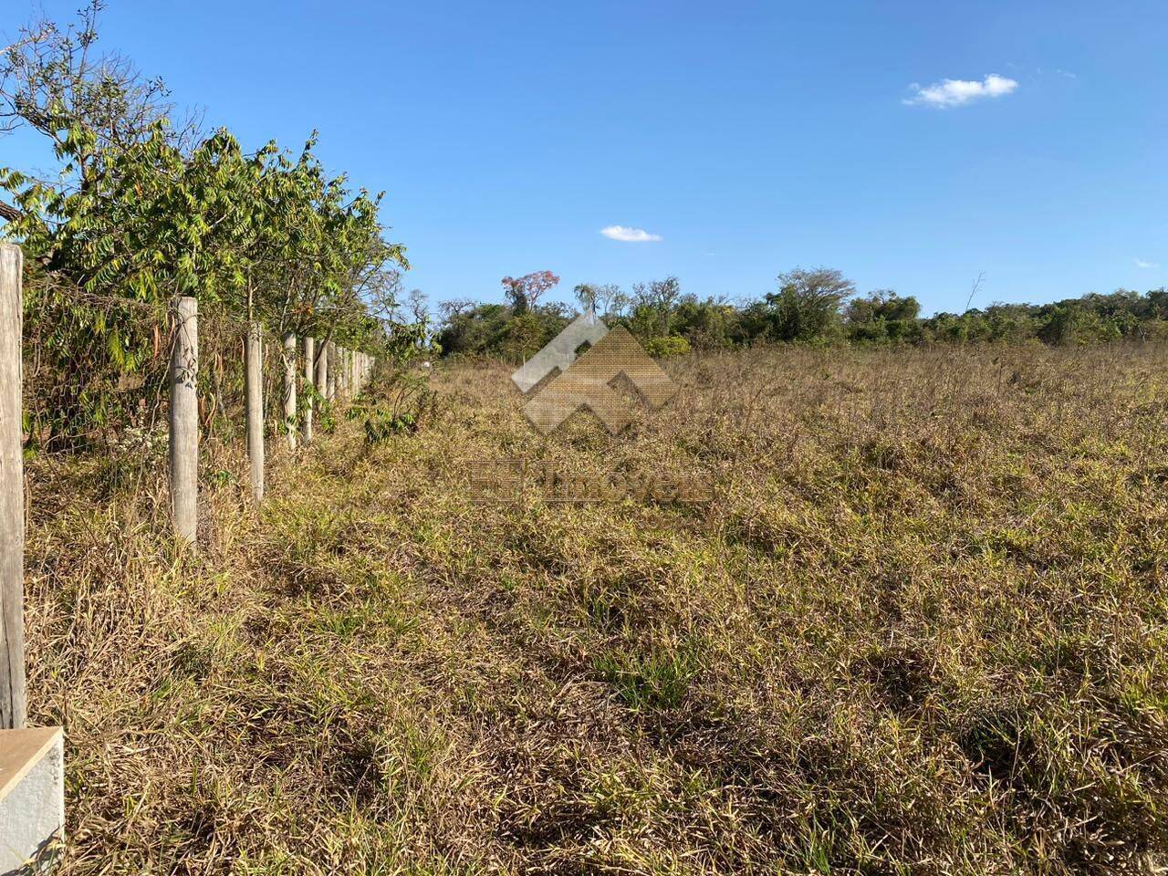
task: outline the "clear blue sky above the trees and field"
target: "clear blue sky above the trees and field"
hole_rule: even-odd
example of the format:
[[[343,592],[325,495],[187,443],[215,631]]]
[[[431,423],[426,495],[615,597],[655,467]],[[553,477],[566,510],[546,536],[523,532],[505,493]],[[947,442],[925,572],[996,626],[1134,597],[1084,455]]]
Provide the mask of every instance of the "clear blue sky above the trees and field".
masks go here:
[[[757,298],[828,265],[926,312],[981,271],[975,306],[1168,283],[1166,40],[1162,0],[110,0],[102,26],[249,146],[319,128],[434,303],[542,269],[564,300],[670,273]]]

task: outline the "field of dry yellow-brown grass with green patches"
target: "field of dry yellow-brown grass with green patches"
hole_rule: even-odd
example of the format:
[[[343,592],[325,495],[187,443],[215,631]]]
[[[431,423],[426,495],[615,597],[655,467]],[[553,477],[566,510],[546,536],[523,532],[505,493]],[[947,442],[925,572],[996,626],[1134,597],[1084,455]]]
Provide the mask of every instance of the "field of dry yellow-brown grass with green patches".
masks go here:
[[[217,451],[197,558],[161,458],[35,461],[65,872],[1154,872],[1166,364],[695,355],[630,432],[547,442],[506,367],[439,368],[418,433],[342,422],[258,514]],[[508,457],[717,499],[474,503]]]

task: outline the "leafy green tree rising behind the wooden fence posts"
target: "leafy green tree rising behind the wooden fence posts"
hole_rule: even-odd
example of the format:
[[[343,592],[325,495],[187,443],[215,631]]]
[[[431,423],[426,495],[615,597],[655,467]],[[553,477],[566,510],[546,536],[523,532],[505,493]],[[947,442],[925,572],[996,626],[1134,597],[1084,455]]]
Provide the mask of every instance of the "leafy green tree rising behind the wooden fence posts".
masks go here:
[[[315,134],[293,157],[274,142],[245,153],[225,130],[176,133],[161,84],[95,51],[98,8],[72,29],[26,29],[0,69],[0,119],[44,135],[60,161],[48,180],[0,167],[20,208],[5,235],[43,278],[27,311],[60,378],[57,427],[84,432],[133,401],[111,387],[157,360],[159,340],[131,305],[192,294],[274,333],[385,345],[366,301],[391,298],[408,263],[384,238],[381,196],[325,173]]]

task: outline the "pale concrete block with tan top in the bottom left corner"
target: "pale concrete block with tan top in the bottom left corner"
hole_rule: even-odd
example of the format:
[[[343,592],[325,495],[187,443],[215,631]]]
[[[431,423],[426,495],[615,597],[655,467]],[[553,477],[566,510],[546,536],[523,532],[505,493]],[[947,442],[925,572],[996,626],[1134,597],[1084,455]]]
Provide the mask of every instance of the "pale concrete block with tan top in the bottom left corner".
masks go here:
[[[61,728],[0,730],[0,874],[46,872],[64,829]]]

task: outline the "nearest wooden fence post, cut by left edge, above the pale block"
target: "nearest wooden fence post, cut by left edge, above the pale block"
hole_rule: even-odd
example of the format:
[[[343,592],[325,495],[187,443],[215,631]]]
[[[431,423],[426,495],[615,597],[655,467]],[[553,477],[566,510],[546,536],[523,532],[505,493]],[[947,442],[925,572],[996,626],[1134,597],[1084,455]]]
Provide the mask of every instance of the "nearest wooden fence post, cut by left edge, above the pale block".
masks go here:
[[[20,246],[0,243],[0,728],[25,726],[25,449]]]

